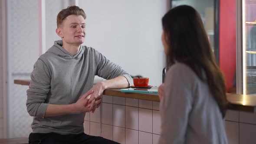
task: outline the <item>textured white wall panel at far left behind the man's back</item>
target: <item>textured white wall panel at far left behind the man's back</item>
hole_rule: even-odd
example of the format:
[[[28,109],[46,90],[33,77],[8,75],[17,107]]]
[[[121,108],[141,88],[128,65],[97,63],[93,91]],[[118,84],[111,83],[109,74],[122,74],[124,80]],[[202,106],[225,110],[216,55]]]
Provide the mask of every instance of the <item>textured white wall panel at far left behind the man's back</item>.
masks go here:
[[[9,137],[27,137],[32,117],[26,112],[27,86],[13,79],[30,79],[39,56],[38,1],[7,0],[8,5],[8,127]]]

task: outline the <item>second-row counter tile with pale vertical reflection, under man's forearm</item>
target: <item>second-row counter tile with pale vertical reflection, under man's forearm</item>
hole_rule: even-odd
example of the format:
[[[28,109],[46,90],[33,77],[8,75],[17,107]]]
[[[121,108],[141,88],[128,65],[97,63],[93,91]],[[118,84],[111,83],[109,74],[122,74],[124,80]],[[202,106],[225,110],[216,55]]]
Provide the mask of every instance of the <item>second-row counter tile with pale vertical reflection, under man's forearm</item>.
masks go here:
[[[125,128],[125,106],[113,105],[113,125]]]

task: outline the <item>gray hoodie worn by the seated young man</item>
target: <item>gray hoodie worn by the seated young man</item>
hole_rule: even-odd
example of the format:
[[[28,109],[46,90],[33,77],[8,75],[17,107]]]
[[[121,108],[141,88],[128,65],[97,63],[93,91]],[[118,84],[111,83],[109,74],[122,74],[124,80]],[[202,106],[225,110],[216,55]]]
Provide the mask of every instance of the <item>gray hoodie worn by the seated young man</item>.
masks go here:
[[[59,134],[79,134],[84,132],[85,113],[72,113],[54,117],[44,117],[49,104],[68,105],[88,92],[93,86],[95,75],[113,79],[123,75],[132,84],[131,76],[120,66],[110,62],[91,47],[81,46],[72,56],[62,48],[62,41],[54,45],[34,65],[27,90],[26,107],[33,116],[33,133],[56,132]]]

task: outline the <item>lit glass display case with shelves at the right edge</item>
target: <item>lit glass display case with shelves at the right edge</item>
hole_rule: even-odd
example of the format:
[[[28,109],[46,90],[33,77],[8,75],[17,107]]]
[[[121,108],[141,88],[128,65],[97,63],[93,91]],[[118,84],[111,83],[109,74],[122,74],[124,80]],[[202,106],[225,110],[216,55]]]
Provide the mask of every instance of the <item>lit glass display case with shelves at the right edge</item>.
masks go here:
[[[256,95],[256,0],[236,0],[236,88]]]

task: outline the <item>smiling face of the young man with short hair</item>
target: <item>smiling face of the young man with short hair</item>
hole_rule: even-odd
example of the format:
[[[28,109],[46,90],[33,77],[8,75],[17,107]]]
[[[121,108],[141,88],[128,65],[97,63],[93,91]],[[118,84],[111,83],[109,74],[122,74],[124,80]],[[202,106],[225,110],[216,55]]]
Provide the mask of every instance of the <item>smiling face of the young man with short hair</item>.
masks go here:
[[[79,46],[85,41],[85,19],[81,15],[67,16],[56,33],[62,37],[63,44]]]

